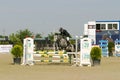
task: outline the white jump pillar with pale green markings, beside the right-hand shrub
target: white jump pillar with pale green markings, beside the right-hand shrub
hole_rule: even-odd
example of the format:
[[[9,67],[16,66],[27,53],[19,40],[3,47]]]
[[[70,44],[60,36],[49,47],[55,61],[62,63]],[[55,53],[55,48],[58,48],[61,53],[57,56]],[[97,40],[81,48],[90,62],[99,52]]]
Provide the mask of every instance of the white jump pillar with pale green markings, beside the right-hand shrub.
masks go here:
[[[88,65],[91,66],[90,51],[92,41],[89,38],[81,39],[81,54],[80,54],[80,66]]]

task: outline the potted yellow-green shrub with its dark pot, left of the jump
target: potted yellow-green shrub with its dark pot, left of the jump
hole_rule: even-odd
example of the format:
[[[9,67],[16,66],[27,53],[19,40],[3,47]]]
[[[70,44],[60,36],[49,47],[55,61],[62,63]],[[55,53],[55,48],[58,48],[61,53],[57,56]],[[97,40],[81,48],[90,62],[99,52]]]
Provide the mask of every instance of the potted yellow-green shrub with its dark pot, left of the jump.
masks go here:
[[[21,63],[21,57],[23,56],[23,48],[21,45],[14,45],[11,49],[11,54],[13,55],[14,64]]]

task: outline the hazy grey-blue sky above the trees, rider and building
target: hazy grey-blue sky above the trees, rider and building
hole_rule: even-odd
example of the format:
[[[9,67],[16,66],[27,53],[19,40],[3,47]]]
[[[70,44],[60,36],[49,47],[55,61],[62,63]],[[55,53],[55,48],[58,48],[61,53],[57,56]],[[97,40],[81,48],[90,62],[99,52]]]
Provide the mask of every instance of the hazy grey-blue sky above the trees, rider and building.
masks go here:
[[[62,27],[81,36],[88,21],[120,20],[119,8],[120,0],[0,0],[0,35],[29,29],[47,36]]]

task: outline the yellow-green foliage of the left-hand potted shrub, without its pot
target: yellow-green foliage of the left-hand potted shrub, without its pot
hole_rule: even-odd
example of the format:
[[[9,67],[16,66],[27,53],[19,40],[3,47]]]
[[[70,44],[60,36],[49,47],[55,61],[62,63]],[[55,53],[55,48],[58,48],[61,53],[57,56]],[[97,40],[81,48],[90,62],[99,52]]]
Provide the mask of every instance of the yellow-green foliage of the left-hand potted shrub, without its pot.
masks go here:
[[[23,48],[21,45],[15,45],[12,50],[11,54],[14,58],[21,58],[23,56]]]

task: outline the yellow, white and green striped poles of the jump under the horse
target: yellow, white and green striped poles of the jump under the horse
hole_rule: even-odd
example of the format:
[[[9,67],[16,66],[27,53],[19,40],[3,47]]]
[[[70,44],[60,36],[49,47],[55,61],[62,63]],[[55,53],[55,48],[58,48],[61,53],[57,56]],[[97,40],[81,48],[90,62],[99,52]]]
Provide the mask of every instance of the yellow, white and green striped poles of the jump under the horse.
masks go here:
[[[69,57],[67,54],[63,54],[64,52],[62,53],[58,53],[58,54],[55,54],[55,52],[48,52],[48,53],[44,53],[44,54],[33,54],[34,56],[34,62],[53,62],[53,63],[61,63],[61,62],[64,62],[64,63],[68,63],[69,62]],[[37,57],[37,59],[35,59]]]

